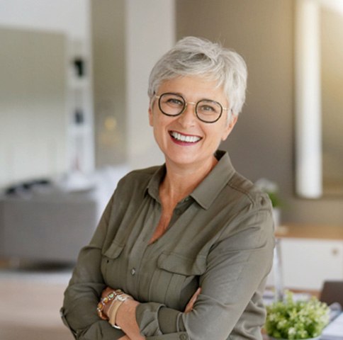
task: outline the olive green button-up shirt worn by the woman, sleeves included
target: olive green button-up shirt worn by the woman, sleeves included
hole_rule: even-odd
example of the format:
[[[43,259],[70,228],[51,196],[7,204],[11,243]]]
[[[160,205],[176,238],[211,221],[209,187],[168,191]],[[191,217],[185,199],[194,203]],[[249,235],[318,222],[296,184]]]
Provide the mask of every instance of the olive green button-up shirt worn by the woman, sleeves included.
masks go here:
[[[106,286],[141,302],[136,319],[146,339],[262,339],[262,294],[274,249],[271,203],[237,174],[227,153],[216,157],[152,244],[166,168],[120,180],[64,293],[62,318],[77,339],[123,336],[96,313]],[[199,286],[193,310],[184,313]]]

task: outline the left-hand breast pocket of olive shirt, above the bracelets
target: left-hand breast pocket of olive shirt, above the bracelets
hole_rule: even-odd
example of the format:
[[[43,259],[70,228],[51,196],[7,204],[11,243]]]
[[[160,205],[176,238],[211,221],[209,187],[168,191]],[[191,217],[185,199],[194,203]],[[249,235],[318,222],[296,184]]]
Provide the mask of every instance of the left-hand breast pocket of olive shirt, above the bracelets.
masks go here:
[[[101,273],[103,280],[109,287],[121,287],[123,283],[118,282],[118,278],[123,277],[123,261],[120,261],[120,254],[124,249],[123,244],[113,242],[111,246],[101,254]],[[114,275],[116,273],[116,275]]]

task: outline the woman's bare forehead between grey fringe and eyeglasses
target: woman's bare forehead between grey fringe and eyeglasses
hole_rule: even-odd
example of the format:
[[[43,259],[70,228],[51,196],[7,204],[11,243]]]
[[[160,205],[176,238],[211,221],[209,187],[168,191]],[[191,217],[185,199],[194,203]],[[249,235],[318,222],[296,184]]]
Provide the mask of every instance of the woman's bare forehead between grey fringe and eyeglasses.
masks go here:
[[[157,94],[173,92],[181,94],[187,100],[193,101],[201,98],[210,98],[216,101],[225,101],[223,87],[218,82],[201,76],[175,77],[162,82]]]

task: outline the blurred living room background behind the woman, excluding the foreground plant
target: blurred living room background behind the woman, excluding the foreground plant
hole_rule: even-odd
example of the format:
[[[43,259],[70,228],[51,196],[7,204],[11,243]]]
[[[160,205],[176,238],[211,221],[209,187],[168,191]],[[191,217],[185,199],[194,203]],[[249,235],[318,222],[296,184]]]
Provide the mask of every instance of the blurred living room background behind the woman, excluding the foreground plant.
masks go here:
[[[269,286],[319,296],[343,280],[341,0],[0,0],[0,339],[72,339],[58,314],[72,265],[120,177],[163,162],[147,77],[186,35],[247,62],[222,148],[278,196]]]

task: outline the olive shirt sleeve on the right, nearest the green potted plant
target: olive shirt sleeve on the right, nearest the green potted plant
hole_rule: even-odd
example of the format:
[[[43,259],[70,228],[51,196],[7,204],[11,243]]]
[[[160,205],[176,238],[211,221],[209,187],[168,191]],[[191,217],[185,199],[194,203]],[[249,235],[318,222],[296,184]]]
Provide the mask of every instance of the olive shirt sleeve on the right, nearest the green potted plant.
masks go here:
[[[224,229],[208,254],[193,311],[183,313],[152,302],[137,307],[137,322],[146,339],[225,340],[234,327],[240,328],[235,331],[242,339],[249,339],[244,329],[263,325],[264,307],[254,305],[252,298],[262,295],[272,265],[274,228],[269,201],[262,198],[257,207],[249,206],[235,223],[230,232]]]

